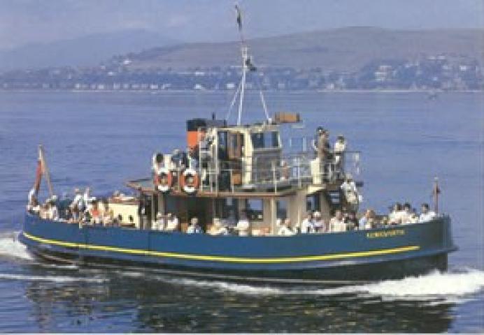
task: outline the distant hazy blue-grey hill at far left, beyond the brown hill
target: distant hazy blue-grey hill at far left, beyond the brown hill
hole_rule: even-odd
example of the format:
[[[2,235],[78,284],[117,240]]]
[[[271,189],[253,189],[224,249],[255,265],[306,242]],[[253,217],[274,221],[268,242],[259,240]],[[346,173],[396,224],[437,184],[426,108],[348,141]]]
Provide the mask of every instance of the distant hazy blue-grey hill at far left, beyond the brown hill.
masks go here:
[[[0,70],[49,66],[96,66],[113,54],[174,45],[177,40],[145,30],[92,34],[52,43],[36,43],[0,51]]]

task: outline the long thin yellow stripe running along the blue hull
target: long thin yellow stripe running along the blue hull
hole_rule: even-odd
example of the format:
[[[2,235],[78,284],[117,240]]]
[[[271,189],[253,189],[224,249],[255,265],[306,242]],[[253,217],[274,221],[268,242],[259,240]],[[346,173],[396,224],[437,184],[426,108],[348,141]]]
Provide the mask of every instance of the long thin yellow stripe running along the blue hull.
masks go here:
[[[93,244],[80,244],[66,241],[56,241],[54,239],[44,239],[33,236],[27,232],[22,232],[24,237],[43,244],[52,244],[55,246],[66,246],[68,248],[83,248],[96,251],[113,251],[116,253],[128,253],[131,255],[148,255],[166,258],[178,258],[185,260],[207,260],[212,262],[236,262],[236,263],[287,263],[287,262],[311,262],[316,260],[341,260],[346,258],[369,257],[377,255],[388,255],[392,253],[405,253],[408,251],[417,251],[420,246],[400,246],[398,248],[388,248],[371,251],[355,251],[353,253],[333,253],[329,255],[313,255],[283,258],[241,258],[215,255],[192,255],[185,253],[167,253],[160,251],[148,251],[142,249],[118,248],[115,246],[97,246]]]

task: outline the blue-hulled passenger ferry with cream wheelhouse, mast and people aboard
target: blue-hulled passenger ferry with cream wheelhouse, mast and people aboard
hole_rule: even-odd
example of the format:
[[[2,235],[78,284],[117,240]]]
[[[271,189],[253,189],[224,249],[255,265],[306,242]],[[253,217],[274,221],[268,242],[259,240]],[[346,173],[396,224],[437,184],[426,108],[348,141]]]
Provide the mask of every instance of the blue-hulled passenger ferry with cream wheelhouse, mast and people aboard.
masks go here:
[[[147,177],[127,181],[136,196],[113,193],[102,206],[89,196],[74,204],[79,194],[53,198],[58,213],[50,216],[39,214],[36,203],[42,176],[53,195],[40,147],[20,241],[56,262],[244,281],[346,283],[445,270],[456,250],[449,216],[409,224],[375,216],[373,225],[333,228],[336,211],[359,209],[360,152],[325,153],[324,141],[315,140],[315,154],[306,137],[299,147],[281,137],[301,117],[269,117],[262,89],[264,121],[242,124],[245,82],[257,68],[236,9],[242,76],[227,118],[188,120],[187,152],[155,153]],[[229,124],[234,106],[236,123]],[[304,226],[308,211],[324,224]]]

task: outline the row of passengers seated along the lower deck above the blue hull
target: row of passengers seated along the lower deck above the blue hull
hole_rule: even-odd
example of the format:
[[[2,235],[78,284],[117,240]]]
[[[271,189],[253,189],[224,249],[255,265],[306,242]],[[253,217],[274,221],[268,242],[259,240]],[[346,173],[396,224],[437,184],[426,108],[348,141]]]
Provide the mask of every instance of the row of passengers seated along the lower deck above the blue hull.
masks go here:
[[[64,221],[68,223],[90,223],[93,225],[122,225],[125,223],[134,227],[134,218],[129,216],[128,222],[123,221],[121,216],[114,216],[113,209],[109,207],[108,200],[103,198],[98,200],[90,194],[90,188],[84,192],[76,188],[76,195],[66,206],[62,206],[59,211],[59,201],[57,196],[40,204],[34,193],[29,193],[27,210],[37,214],[43,219]],[[422,204],[420,214],[412,208],[408,202],[405,204],[394,204],[387,216],[377,216],[373,209],[366,209],[364,214],[357,218],[355,211],[343,212],[336,210],[334,216],[326,221],[322,218],[319,211],[308,211],[306,217],[299,225],[293,225],[289,218],[276,220],[276,234],[289,236],[293,234],[314,234],[346,232],[351,230],[367,230],[373,228],[385,228],[391,225],[407,225],[411,223],[421,223],[430,221],[436,217],[434,211],[429,209],[429,204]],[[239,219],[236,219],[234,211],[229,211],[227,218],[213,218],[213,223],[209,225],[207,231],[212,235],[235,234],[248,236],[251,233],[251,224],[245,211],[241,211]],[[163,215],[158,213],[155,221],[151,225],[152,230],[165,232],[180,231],[180,221],[171,213]],[[199,225],[199,219],[193,217],[187,227],[187,234],[203,233],[204,230]],[[269,229],[258,230],[257,234],[269,234]]]

